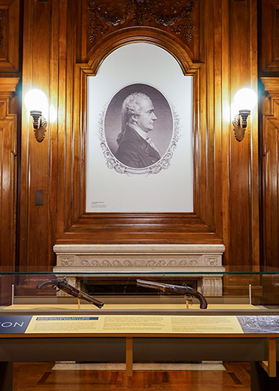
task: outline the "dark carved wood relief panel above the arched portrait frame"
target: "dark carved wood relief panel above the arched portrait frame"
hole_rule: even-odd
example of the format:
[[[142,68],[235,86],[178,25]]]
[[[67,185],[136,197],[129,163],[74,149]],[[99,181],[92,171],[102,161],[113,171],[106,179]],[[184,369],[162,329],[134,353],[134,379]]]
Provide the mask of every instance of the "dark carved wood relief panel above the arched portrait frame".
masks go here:
[[[104,38],[127,27],[153,27],[172,34],[195,52],[199,38],[199,0],[84,0],[87,52]],[[195,57],[198,57],[195,56]]]

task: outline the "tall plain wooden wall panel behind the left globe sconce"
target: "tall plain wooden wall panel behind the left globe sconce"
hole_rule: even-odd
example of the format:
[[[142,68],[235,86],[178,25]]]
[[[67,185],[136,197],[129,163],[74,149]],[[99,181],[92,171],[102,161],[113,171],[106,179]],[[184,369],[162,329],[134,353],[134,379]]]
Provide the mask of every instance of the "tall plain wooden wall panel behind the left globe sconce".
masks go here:
[[[22,94],[38,88],[50,91],[50,2],[24,1]],[[33,135],[31,118],[22,108],[22,191],[20,266],[45,270],[49,229],[49,129],[43,142]],[[43,190],[43,205],[35,205],[35,191]]]

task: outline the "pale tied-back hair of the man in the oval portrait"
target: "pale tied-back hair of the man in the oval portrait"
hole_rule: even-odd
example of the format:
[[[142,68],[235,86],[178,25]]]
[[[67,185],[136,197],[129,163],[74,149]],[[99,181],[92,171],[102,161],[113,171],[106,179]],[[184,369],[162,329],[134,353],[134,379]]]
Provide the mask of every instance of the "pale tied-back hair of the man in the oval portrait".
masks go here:
[[[121,133],[117,136],[117,143],[120,144],[123,135],[126,132],[127,125],[132,122],[133,115],[140,115],[142,111],[142,100],[149,99],[149,96],[142,92],[133,92],[123,101],[121,112]]]

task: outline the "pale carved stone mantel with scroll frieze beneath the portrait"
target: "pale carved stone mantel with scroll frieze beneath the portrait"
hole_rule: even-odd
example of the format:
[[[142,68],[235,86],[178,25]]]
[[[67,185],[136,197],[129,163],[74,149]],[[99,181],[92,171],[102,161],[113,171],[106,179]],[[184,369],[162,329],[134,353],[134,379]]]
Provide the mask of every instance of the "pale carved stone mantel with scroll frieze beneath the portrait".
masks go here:
[[[222,267],[223,245],[57,245],[57,267],[63,269],[135,270],[160,268],[187,271],[192,268]]]

